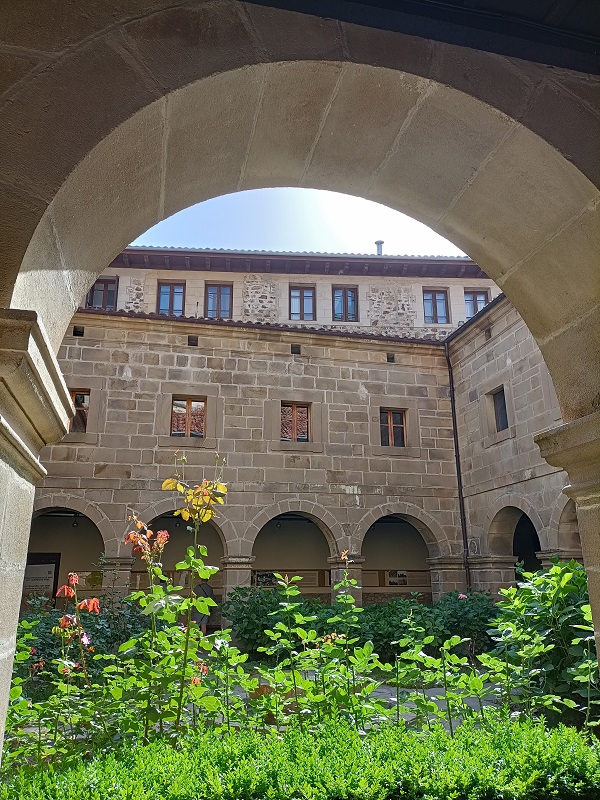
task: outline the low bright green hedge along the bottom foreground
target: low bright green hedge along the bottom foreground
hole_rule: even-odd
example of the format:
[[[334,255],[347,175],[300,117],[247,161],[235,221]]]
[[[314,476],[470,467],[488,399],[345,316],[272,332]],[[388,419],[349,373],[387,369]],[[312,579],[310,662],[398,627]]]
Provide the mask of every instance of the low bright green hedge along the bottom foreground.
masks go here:
[[[21,768],[0,800],[599,800],[600,752],[575,730],[497,718],[452,739],[344,723],[317,733],[204,732],[71,768]]]

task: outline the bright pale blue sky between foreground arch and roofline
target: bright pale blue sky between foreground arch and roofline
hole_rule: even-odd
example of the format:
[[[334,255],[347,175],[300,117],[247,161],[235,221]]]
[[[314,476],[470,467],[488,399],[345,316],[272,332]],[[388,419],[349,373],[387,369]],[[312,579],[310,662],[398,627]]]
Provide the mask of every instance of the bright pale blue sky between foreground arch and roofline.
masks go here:
[[[453,244],[387,206],[317,189],[254,189],[191,206],[134,245],[231,250],[463,255]]]

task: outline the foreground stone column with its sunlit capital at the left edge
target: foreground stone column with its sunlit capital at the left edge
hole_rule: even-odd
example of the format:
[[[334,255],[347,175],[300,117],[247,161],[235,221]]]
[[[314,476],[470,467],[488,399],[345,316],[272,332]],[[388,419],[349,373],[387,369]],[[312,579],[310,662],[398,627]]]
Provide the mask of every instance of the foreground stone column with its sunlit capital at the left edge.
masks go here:
[[[71,398],[34,311],[0,309],[0,741],[33,510],[46,471],[38,454],[59,441]]]

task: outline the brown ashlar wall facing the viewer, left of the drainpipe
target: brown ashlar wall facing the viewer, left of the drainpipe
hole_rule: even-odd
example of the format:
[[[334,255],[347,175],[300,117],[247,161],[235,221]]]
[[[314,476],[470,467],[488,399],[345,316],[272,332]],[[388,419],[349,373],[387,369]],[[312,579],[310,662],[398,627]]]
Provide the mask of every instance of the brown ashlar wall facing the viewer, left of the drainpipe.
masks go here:
[[[76,498],[102,520],[109,557],[131,555],[122,541],[131,509],[149,519],[175,507],[160,485],[176,450],[185,450],[192,479],[213,474],[215,454],[226,459],[229,496],[218,524],[229,585],[247,581],[253,541],[281,513],[314,519],[332,559],[344,549],[360,555],[368,527],[389,514],[415,524],[432,558],[460,556],[439,345],[97,313],[73,323],[84,335],[66,337],[59,360],[71,389],[90,389],[88,429],[44,451],[48,476],[37,508],[72,507]],[[189,334],[197,346],[188,345]],[[292,343],[300,355],[291,354]],[[169,436],[173,396],[206,398],[204,439]],[[313,441],[280,441],[281,401],[311,405]],[[406,448],[381,445],[382,406],[407,409]]]

